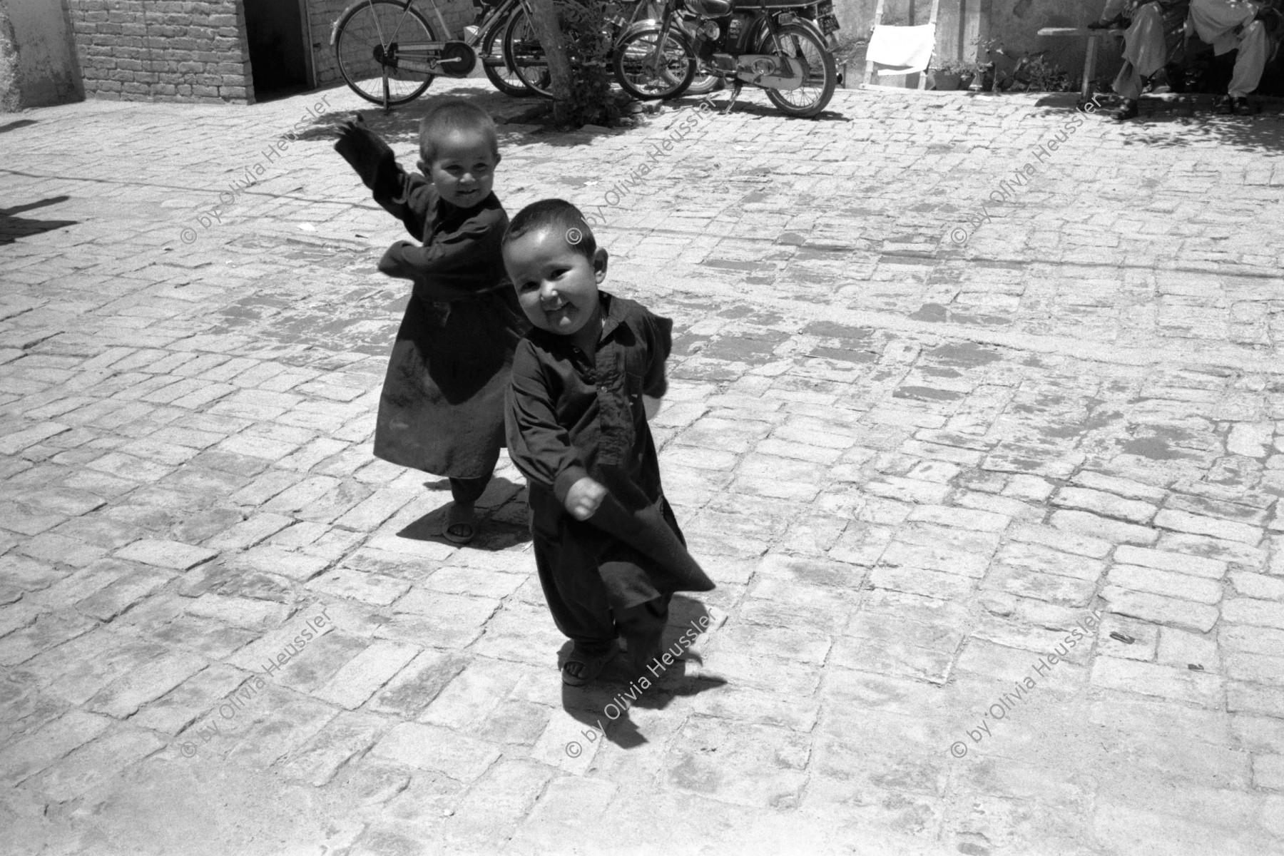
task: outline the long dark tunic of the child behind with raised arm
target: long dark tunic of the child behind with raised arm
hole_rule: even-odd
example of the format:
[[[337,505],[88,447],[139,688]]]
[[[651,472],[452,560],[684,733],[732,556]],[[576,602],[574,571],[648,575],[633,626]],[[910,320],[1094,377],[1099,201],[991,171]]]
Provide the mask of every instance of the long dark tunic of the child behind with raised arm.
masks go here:
[[[394,163],[372,187],[424,243],[398,241],[379,262],[415,286],[379,399],[375,456],[440,476],[489,476],[503,447],[512,352],[529,326],[499,254],[508,217],[494,194],[457,208]]]

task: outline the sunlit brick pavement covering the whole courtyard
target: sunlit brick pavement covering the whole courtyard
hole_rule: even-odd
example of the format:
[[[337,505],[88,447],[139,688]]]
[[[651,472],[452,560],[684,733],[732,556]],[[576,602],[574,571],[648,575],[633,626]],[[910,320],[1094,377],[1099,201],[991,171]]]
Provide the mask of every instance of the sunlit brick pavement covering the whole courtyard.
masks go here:
[[[6,852],[1284,851],[1278,109],[502,126],[681,334],[719,588],[629,701],[562,689],[511,465],[457,549],[371,457],[407,289],[324,95],[0,126]]]

